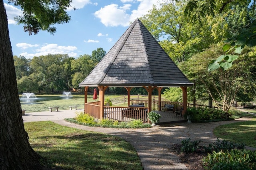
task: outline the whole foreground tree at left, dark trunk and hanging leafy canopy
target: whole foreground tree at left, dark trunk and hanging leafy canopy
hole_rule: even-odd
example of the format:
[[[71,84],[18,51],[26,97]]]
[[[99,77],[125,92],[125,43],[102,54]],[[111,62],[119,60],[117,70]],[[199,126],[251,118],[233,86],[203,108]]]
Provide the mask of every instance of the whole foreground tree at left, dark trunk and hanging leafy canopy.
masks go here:
[[[9,0],[20,6],[25,31],[36,34],[39,30],[54,32],[52,24],[68,22],[66,8],[70,0]],[[1,169],[42,169],[40,156],[32,149],[25,131],[14,59],[10,43],[4,1],[0,0],[0,167]]]

